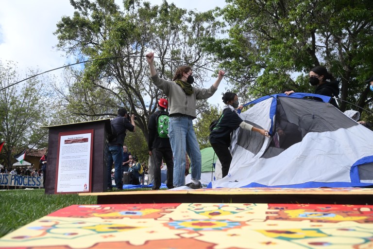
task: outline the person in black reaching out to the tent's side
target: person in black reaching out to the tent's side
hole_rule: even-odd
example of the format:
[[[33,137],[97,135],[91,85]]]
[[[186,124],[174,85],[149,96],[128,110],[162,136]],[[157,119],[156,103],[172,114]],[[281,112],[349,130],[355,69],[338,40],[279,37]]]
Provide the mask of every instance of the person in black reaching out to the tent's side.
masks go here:
[[[238,127],[246,130],[259,132],[261,135],[270,137],[269,131],[259,129],[243,121],[237,114],[238,97],[236,93],[224,93],[222,100],[226,105],[223,113],[220,115],[217,125],[210,132],[210,143],[221,163],[222,176],[228,175],[229,167],[232,161],[232,155],[229,151],[231,144],[231,133]]]

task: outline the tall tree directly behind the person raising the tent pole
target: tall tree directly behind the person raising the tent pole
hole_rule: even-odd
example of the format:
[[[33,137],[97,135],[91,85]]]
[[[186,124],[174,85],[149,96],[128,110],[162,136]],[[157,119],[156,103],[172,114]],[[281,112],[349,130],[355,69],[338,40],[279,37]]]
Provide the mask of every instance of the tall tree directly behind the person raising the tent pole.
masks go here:
[[[167,1],[151,6],[142,0],[125,0],[123,12],[114,0],[70,2],[75,13],[57,24],[57,47],[79,60],[115,58],[85,63],[71,84],[78,90],[66,94],[62,104],[68,104],[76,115],[96,118],[116,115],[118,107],[126,107],[137,116],[136,126],[147,140],[148,117],[164,96],[150,82],[144,56],[155,51],[161,57],[156,68],[165,79],[171,79],[173,71],[185,62],[206,66],[200,37],[215,32],[212,12],[186,12]],[[206,76],[199,68],[194,72],[198,79]],[[97,99],[92,97],[95,94],[99,94]],[[102,96],[110,103],[100,102]],[[102,108],[97,108],[99,105]]]

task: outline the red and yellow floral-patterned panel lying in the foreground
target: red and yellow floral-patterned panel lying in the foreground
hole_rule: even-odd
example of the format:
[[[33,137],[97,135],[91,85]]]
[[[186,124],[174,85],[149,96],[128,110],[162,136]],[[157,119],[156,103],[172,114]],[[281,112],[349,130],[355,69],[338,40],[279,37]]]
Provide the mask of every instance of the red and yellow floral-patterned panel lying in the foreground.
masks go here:
[[[72,205],[0,238],[0,249],[369,249],[373,206]]]

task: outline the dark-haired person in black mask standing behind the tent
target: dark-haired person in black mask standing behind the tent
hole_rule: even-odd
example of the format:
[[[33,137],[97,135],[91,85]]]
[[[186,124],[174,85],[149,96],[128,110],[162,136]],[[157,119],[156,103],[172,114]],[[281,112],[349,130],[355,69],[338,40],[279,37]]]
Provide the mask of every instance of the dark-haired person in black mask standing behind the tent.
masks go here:
[[[329,97],[339,96],[339,81],[336,81],[334,76],[322,66],[317,66],[311,69],[309,72],[309,84],[316,86],[315,94],[320,94]],[[294,91],[285,91],[286,95],[293,93]],[[332,98],[330,104],[338,107],[337,101]]]

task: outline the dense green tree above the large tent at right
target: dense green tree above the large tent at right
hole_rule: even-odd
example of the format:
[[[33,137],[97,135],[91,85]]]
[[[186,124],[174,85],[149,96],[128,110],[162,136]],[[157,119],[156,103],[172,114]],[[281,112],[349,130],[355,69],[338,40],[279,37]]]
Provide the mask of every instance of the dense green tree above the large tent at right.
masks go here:
[[[352,108],[348,102],[372,107],[363,84],[373,71],[370,1],[227,2],[220,14],[229,37],[205,38],[204,48],[216,51],[217,61],[238,80],[231,81],[237,93],[259,97],[285,89],[313,92],[307,74],[324,65],[340,81],[342,111]]]

